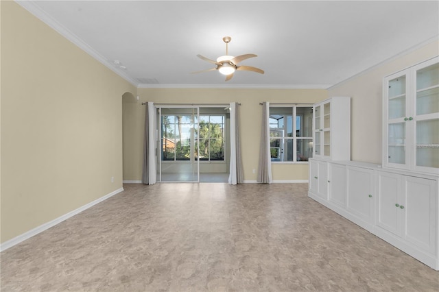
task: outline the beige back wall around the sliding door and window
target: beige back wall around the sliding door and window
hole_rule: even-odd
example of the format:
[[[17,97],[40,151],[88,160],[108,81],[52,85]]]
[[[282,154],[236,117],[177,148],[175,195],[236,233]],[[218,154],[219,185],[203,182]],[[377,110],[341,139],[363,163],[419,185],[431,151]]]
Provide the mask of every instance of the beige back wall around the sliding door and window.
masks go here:
[[[145,106],[142,102],[163,104],[228,104],[241,103],[241,141],[244,180],[255,181],[258,168],[259,138],[261,136],[262,101],[275,103],[313,104],[327,98],[327,90],[320,89],[161,89],[139,88],[139,101],[123,104],[123,180],[141,180],[143,127]],[[273,165],[274,180],[307,180],[308,165]]]

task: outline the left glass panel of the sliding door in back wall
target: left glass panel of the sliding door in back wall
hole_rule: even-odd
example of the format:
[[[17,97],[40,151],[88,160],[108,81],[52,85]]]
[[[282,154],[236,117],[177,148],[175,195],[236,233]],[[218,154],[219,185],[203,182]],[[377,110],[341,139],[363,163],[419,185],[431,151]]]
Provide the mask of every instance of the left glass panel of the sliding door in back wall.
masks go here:
[[[158,108],[159,182],[199,182],[198,107]]]

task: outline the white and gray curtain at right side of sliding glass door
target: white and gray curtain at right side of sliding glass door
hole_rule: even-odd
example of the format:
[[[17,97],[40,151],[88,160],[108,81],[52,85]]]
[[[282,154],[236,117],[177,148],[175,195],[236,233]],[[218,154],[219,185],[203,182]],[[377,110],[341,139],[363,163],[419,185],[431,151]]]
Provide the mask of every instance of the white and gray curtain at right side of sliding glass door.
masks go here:
[[[230,175],[229,184],[241,184],[244,181],[241,158],[241,141],[239,138],[239,106],[230,103]]]

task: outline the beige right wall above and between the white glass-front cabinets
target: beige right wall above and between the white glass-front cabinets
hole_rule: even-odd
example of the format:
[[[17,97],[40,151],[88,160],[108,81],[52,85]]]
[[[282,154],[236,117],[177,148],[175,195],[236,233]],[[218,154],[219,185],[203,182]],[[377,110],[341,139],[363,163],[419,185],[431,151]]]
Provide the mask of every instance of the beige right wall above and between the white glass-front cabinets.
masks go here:
[[[351,96],[351,159],[381,164],[383,77],[439,55],[436,40],[376,66],[333,88],[329,96]]]

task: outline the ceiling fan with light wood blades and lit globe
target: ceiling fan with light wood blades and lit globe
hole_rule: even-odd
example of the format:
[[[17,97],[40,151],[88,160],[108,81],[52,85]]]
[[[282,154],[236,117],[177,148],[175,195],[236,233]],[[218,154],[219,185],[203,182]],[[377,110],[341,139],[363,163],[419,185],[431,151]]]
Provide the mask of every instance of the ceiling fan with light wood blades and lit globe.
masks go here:
[[[257,57],[257,55],[254,55],[254,53],[246,53],[245,55],[241,55],[241,56],[237,56],[237,57],[228,56],[228,43],[230,42],[230,40],[232,40],[232,38],[230,38],[230,36],[224,36],[224,38],[222,38],[222,40],[224,40],[224,42],[226,42],[226,55],[225,56],[220,56],[217,58],[216,61],[214,61],[214,60],[211,60],[211,59],[206,58],[204,56],[197,55],[197,57],[200,58],[201,60],[207,61],[207,62],[215,64],[217,66],[215,68],[197,71],[197,72],[193,72],[193,73],[202,73],[202,72],[207,72],[207,71],[218,70],[219,73],[226,75],[226,81],[232,79],[233,73],[235,73],[235,71],[253,71],[253,72],[263,74],[263,70],[256,68],[256,67],[237,66],[237,64],[239,64],[240,62],[242,62],[248,58]]]

